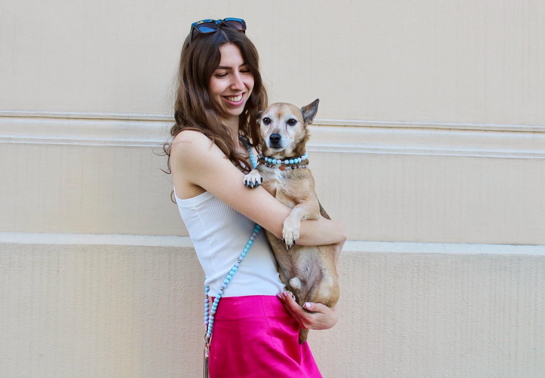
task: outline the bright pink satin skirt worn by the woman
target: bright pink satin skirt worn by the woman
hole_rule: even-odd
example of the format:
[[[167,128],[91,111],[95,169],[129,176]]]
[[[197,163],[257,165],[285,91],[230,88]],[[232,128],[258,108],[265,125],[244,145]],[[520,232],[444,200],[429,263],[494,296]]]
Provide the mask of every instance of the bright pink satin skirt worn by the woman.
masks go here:
[[[210,344],[210,378],[322,378],[299,325],[276,296],[221,298]]]

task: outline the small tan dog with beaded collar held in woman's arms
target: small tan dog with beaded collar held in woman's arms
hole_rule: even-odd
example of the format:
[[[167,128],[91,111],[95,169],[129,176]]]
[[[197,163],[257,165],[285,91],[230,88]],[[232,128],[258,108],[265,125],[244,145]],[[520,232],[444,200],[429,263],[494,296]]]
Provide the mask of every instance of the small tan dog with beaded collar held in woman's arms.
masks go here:
[[[277,102],[261,113],[262,154],[258,166],[244,177],[248,187],[263,187],[282,204],[292,208],[284,221],[283,241],[265,230],[280,266],[280,279],[295,295],[300,306],[305,302],[323,303],[332,308],[338,301],[339,286],[332,246],[299,246],[301,220],[316,220],[320,214],[329,218],[314,193],[314,178],[307,168],[305,144],[307,125],[318,111],[316,99],[298,108]],[[299,343],[308,330],[301,328]]]

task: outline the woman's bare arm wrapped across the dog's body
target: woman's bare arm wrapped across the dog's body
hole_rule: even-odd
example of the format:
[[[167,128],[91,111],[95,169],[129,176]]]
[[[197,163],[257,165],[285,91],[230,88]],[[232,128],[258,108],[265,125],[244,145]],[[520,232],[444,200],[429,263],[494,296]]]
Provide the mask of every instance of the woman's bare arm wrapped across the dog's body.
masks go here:
[[[283,222],[292,209],[282,205],[264,188],[247,188],[240,172],[225,154],[202,133],[185,130],[171,147],[171,168],[188,184],[202,187],[214,197],[282,237]],[[301,221],[300,245],[344,243],[346,231],[341,223],[320,217]]]

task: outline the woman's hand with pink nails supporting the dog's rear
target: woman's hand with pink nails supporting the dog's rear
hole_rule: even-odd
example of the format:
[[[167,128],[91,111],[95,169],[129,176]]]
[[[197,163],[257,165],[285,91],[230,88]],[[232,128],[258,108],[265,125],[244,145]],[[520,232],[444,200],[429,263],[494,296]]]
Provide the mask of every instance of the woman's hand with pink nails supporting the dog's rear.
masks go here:
[[[331,309],[322,303],[306,302],[305,308],[314,312],[314,314],[311,314],[299,306],[289,292],[284,291],[276,294],[276,296],[280,299],[288,314],[297,320],[300,327],[307,328],[307,330],[327,330],[334,326],[339,318],[337,306]]]

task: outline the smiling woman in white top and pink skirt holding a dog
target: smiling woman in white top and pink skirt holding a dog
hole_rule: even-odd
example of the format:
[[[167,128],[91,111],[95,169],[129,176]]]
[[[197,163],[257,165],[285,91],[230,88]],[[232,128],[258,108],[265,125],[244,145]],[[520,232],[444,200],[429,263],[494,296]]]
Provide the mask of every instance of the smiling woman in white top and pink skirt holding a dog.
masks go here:
[[[239,19],[192,25],[181,51],[174,139],[166,149],[176,202],[211,297],[237,262],[255,224],[281,237],[291,210],[262,187],[243,185],[251,164],[239,135],[252,147],[257,145],[258,112],[267,106],[258,54],[244,30]],[[345,240],[340,223],[320,218],[301,222],[297,242],[333,244],[338,259]],[[267,239],[258,233],[217,306],[211,377],[321,376],[307,343],[298,344],[298,331],[300,326],[334,326],[337,309],[308,303],[311,314],[284,290]]]

